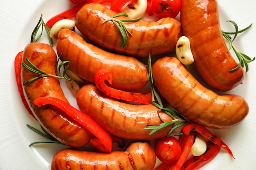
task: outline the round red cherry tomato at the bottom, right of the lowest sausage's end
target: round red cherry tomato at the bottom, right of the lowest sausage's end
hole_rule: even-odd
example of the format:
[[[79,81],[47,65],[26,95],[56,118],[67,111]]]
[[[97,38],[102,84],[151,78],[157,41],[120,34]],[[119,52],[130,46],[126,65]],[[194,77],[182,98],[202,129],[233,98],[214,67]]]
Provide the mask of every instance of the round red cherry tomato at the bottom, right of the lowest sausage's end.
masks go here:
[[[155,155],[164,163],[173,163],[181,155],[181,145],[175,137],[162,137],[156,140]]]

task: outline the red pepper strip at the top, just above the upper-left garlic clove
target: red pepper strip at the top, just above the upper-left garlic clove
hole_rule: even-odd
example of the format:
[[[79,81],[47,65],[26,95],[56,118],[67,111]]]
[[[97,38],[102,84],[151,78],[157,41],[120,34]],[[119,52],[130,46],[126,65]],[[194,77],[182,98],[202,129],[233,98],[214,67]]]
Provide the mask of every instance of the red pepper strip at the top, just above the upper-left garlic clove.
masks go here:
[[[111,2],[112,0],[86,0],[86,2],[83,2],[81,4],[78,4],[70,9],[67,9],[66,11],[59,13],[57,15],[55,15],[54,17],[52,17],[51,19],[49,19],[46,22],[46,26],[53,26],[57,21],[62,20],[62,19],[70,19],[70,18],[74,18],[76,16],[76,13],[85,5],[88,3],[92,3],[92,2],[97,2],[97,3],[105,3],[105,2]]]

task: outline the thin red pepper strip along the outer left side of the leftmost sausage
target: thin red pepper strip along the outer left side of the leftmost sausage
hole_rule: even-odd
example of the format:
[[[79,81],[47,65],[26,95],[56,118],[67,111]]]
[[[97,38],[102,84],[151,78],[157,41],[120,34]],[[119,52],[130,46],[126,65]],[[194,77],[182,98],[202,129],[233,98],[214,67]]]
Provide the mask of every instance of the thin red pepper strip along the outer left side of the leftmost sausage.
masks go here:
[[[22,82],[21,82],[21,61],[22,61],[22,55],[23,51],[19,52],[14,60],[14,70],[15,70],[15,78],[16,78],[16,84],[18,87],[18,92],[20,94],[21,100],[29,114],[36,119],[34,114],[32,113],[31,109],[29,108],[29,104],[27,103],[27,100],[24,96],[23,88],[22,88]]]

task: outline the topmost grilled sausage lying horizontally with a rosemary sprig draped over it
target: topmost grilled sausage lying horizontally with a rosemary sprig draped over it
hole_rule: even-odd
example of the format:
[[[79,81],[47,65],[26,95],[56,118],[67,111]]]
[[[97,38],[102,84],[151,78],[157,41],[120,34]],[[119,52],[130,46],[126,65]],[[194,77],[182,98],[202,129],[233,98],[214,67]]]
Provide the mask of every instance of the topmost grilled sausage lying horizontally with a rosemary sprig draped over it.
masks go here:
[[[171,52],[181,36],[180,22],[173,18],[163,18],[157,22],[124,22],[132,35],[127,38],[126,46],[120,47],[120,31],[111,21],[103,23],[116,14],[102,4],[85,4],[76,14],[76,27],[85,37],[108,50],[137,57]],[[124,16],[117,18],[129,19]]]

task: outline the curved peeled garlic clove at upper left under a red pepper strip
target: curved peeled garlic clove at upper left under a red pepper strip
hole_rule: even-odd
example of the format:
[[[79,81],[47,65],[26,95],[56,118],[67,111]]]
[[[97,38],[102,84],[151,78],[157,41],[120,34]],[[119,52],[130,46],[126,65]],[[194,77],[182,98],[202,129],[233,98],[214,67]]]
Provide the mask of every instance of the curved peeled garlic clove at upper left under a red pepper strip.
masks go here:
[[[58,32],[61,31],[61,29],[70,29],[74,30],[75,29],[75,22],[73,20],[68,20],[68,19],[63,19],[57,21],[53,26],[52,29],[50,30],[50,37],[53,39],[58,38]]]

